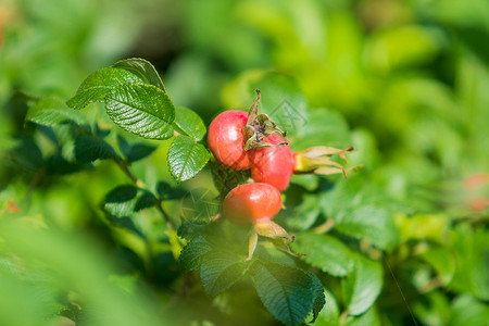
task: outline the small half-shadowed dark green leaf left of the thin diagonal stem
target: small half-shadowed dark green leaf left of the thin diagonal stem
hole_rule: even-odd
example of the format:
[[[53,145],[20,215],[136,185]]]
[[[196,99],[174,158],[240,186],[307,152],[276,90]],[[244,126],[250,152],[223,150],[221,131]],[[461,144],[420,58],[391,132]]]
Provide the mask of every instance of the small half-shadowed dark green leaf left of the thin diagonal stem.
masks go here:
[[[116,216],[131,216],[141,210],[158,204],[156,198],[148,190],[140,189],[136,186],[125,185],[112,189],[105,197],[104,210]]]

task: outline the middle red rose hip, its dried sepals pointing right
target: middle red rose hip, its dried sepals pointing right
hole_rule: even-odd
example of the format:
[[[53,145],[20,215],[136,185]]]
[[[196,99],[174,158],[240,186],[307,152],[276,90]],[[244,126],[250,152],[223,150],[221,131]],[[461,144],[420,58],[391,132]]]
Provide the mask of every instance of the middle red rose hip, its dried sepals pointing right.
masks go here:
[[[277,145],[286,141],[281,136],[271,135],[263,141]],[[296,159],[288,145],[256,148],[249,153],[252,161],[251,177],[255,183],[266,183],[279,191],[287,189],[293,173]]]

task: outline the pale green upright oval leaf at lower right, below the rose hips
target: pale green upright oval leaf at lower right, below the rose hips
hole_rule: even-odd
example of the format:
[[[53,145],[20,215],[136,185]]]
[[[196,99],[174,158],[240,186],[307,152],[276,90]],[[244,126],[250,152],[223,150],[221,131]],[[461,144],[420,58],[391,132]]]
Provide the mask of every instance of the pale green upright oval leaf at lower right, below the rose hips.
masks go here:
[[[384,283],[384,269],[378,261],[354,254],[353,271],[343,279],[343,294],[348,313],[360,315],[377,299]]]

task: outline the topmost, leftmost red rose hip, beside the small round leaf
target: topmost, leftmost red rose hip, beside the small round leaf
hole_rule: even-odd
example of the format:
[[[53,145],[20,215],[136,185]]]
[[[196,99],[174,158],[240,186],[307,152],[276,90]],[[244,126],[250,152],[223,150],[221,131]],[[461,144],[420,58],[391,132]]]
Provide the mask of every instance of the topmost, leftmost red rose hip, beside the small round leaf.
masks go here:
[[[209,126],[208,146],[211,152],[221,164],[235,171],[251,167],[242,134],[247,121],[248,112],[229,110],[217,115]]]

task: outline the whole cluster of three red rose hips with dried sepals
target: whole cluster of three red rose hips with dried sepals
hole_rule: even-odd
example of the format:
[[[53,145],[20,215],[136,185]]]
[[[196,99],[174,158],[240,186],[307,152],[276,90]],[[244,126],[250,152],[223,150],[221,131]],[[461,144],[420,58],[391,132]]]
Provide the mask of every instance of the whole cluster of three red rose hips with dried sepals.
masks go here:
[[[249,112],[229,110],[217,115],[209,127],[208,145],[214,158],[234,171],[250,170],[254,183],[234,188],[224,199],[224,215],[238,225],[253,224],[250,238],[250,258],[256,244],[258,235],[269,238],[292,238],[272,218],[281,209],[280,191],[287,189],[293,173],[334,174],[347,171],[330,161],[338,154],[353,151],[329,147],[313,147],[292,152],[286,131],[266,115],[259,113],[261,93]]]

